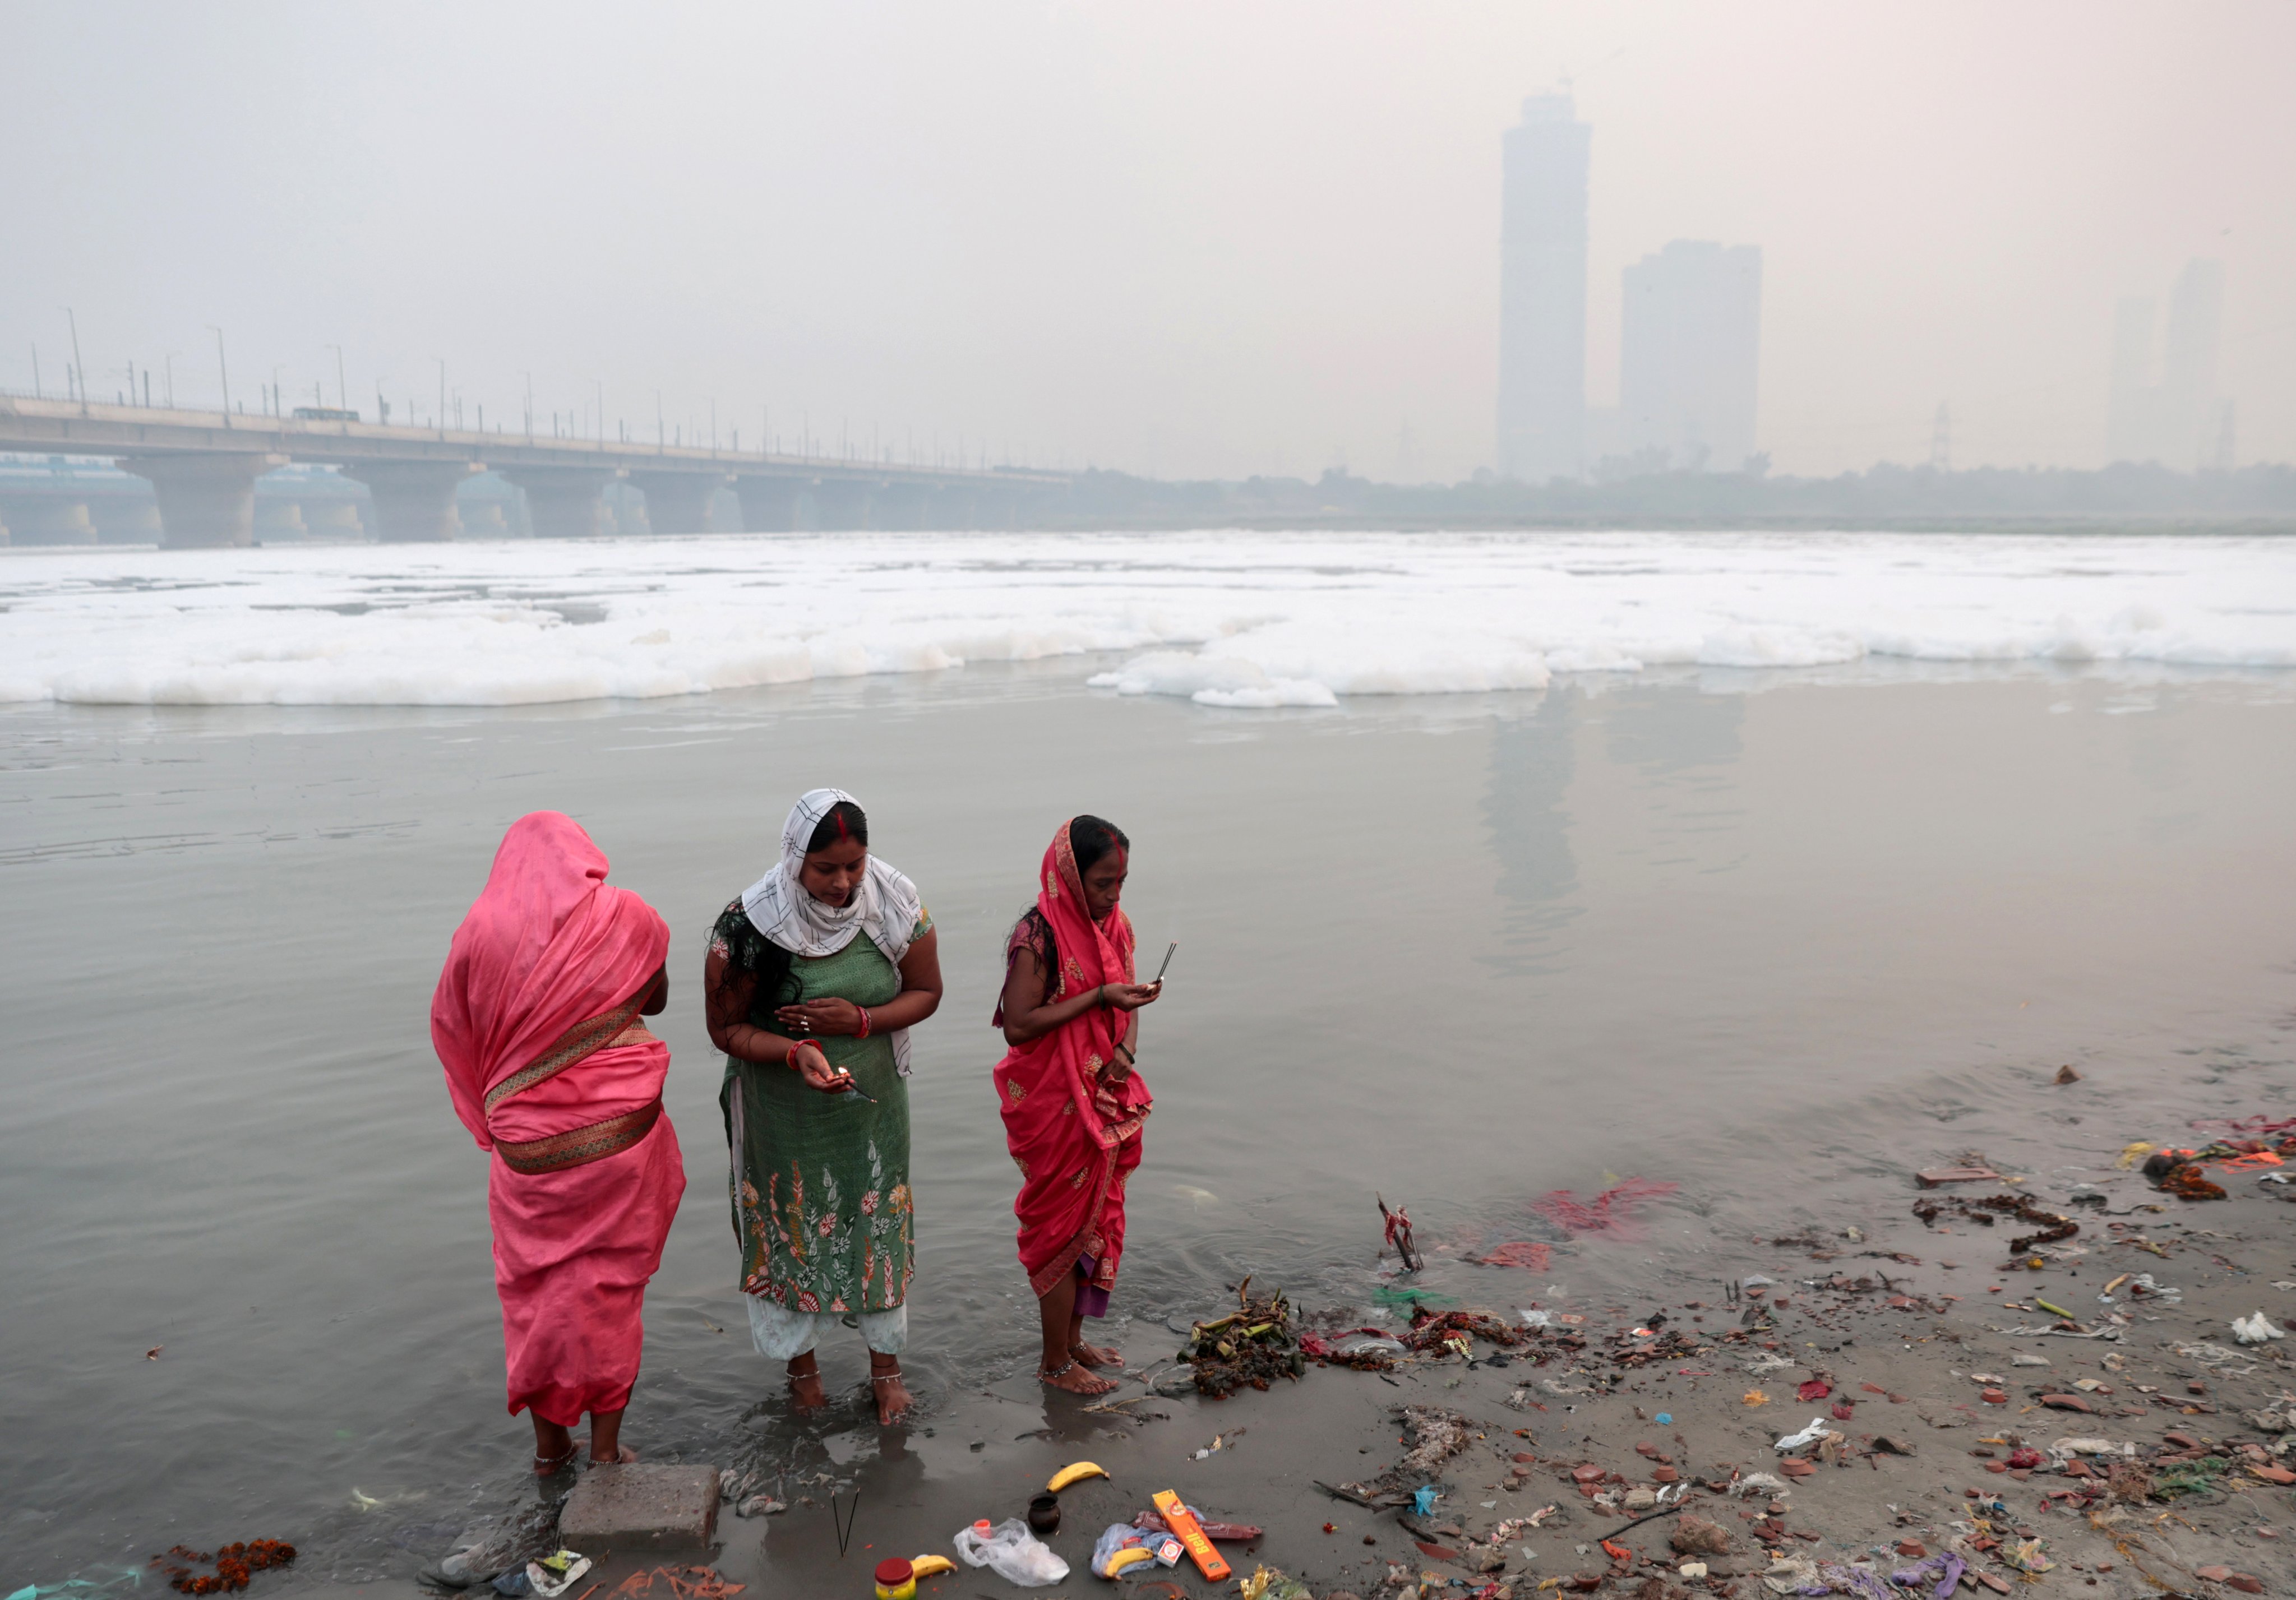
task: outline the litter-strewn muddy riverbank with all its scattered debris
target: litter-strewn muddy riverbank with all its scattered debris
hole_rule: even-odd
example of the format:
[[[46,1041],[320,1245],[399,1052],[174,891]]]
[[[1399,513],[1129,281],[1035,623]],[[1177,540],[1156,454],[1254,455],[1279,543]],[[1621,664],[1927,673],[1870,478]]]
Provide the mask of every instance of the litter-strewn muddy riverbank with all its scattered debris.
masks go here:
[[[707,1545],[567,1543],[595,1563],[595,1595],[668,1577],[705,1595],[868,1593],[882,1559],[951,1554],[967,1524],[1019,1517],[1072,1476],[1042,1540],[1068,1566],[1058,1593],[1102,1591],[1095,1540],[1155,1527],[1159,1490],[1228,1524],[1233,1575],[1134,1566],[1107,1593],[2296,1591],[2296,1116],[2115,1127],[2126,1139],[2094,1148],[2112,1090],[2071,1067],[2030,1079],[2037,1120],[2060,1129],[2037,1171],[1933,1139],[1903,1152],[1894,1205],[1809,1221],[1825,1198],[1791,1196],[1793,1221],[1727,1258],[1644,1258],[1591,1292],[1557,1279],[1596,1251],[1639,1253],[1694,1198],[1632,1178],[1554,1194],[1552,1242],[1421,1242],[1410,1272],[1366,1196],[1382,1267],[1364,1304],[1277,1306],[1254,1279],[1238,1286],[1251,1315],[1137,1325],[1104,1400],[1026,1380],[928,1396],[916,1426],[843,1462],[776,1432],[716,1467]],[[2255,1077],[2239,1088],[2285,1100]],[[1079,1460],[1104,1471],[1063,1474]],[[480,1517],[457,1577],[556,1549],[565,1492]],[[420,1589],[441,1586],[360,1593]],[[962,1563],[916,1589],[1003,1591]]]

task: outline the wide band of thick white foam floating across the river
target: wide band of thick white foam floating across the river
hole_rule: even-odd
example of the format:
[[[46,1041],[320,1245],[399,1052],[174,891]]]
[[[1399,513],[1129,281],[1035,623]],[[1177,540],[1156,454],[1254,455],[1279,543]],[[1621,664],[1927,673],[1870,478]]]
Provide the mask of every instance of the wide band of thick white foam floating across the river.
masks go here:
[[[2296,542],[870,533],[0,558],[0,700],[526,705],[1125,652],[1201,705],[1557,673],[2296,668]]]

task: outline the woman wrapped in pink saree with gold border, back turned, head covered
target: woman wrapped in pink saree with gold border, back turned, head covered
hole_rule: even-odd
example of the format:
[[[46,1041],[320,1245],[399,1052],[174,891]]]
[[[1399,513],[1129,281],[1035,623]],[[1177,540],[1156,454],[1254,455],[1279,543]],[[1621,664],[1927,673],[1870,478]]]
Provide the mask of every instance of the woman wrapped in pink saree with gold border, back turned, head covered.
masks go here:
[[[510,1409],[533,1409],[537,1474],[572,1465],[583,1412],[592,1462],[636,1460],[620,1432],[641,1308],[687,1189],[661,1111],[670,1049],[641,1022],[668,999],[668,950],[590,836],[537,810],[503,836],[432,999],[455,1113],[494,1152]]]

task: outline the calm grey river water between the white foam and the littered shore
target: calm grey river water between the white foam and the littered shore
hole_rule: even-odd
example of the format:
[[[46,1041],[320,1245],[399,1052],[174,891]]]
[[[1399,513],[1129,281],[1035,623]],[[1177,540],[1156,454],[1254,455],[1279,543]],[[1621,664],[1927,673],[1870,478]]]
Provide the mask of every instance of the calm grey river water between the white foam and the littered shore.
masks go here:
[[[2037,1088],[2060,1063],[2124,1090],[2099,1148],[2195,1084],[2271,1104],[2289,1081],[2287,673],[1678,668],[1228,712],[1086,689],[1102,666],[0,714],[0,1570],[117,1582],[179,1538],[285,1536],[315,1575],[406,1575],[517,1485],[487,1162],[427,1003],[535,808],[675,934],[691,1187],[625,1435],[654,1458],[785,1428],[732,1288],[698,973],[813,785],[861,797],[941,927],[914,1079],[925,1421],[1031,1357],[987,1017],[1077,810],[1132,831],[1143,950],[1180,941],[1141,1049],[1137,1352],[1244,1272],[1368,1297],[1373,1194],[1472,1249],[1559,1240],[1529,1210],[1552,1189],[1678,1182],[1642,1244],[1564,1246],[1573,1286],[1536,1292],[1570,1295],[2014,1150],[2071,1116]],[[854,1384],[859,1343],[827,1370]]]

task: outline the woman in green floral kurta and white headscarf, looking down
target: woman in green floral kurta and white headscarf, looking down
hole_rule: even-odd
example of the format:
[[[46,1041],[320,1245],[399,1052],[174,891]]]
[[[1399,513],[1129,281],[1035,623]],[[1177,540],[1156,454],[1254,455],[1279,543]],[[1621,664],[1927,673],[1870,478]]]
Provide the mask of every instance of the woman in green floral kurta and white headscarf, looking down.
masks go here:
[[[790,1364],[799,1409],[827,1403],[815,1345],[847,1320],[870,1347],[877,1419],[909,1409],[909,1026],[941,1003],[937,943],[916,886],[868,854],[868,817],[843,790],[797,801],[781,861],[709,937],[742,1290],[751,1338]]]

